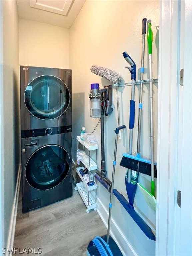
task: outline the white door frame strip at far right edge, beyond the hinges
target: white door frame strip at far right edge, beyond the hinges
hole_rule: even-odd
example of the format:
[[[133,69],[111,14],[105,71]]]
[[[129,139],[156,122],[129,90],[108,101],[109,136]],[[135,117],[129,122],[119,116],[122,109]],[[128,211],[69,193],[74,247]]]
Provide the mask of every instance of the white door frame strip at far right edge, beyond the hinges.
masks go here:
[[[192,255],[192,3],[185,0],[180,254]]]

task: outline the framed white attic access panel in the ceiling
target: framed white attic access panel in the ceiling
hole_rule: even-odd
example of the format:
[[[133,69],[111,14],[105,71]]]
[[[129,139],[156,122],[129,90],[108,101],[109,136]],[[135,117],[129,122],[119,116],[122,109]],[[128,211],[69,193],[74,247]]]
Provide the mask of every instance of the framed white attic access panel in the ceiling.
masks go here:
[[[33,8],[61,14],[63,16],[67,16],[72,3],[72,0],[30,0],[30,6]]]

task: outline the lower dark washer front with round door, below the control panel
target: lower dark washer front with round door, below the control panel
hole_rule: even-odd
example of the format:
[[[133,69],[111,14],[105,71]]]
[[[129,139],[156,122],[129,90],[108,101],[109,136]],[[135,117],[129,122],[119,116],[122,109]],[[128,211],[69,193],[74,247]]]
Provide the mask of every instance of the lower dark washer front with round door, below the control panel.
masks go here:
[[[21,141],[23,212],[71,197],[71,132]]]

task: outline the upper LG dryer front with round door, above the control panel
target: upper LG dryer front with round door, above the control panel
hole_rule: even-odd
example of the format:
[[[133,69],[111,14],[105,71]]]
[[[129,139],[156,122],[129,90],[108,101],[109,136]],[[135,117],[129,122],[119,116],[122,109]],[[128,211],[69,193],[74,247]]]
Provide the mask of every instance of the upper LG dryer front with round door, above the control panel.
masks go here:
[[[20,66],[21,131],[72,125],[71,70]]]

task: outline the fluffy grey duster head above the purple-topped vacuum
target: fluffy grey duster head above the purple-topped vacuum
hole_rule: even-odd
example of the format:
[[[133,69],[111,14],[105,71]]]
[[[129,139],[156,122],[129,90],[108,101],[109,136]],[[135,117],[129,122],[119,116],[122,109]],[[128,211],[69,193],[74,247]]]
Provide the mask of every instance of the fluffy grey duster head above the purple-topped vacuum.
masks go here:
[[[122,80],[122,77],[117,73],[114,72],[108,68],[103,68],[97,65],[92,65],[90,68],[91,72],[93,72],[95,75],[104,77],[108,81],[110,81],[113,84],[120,83]]]

